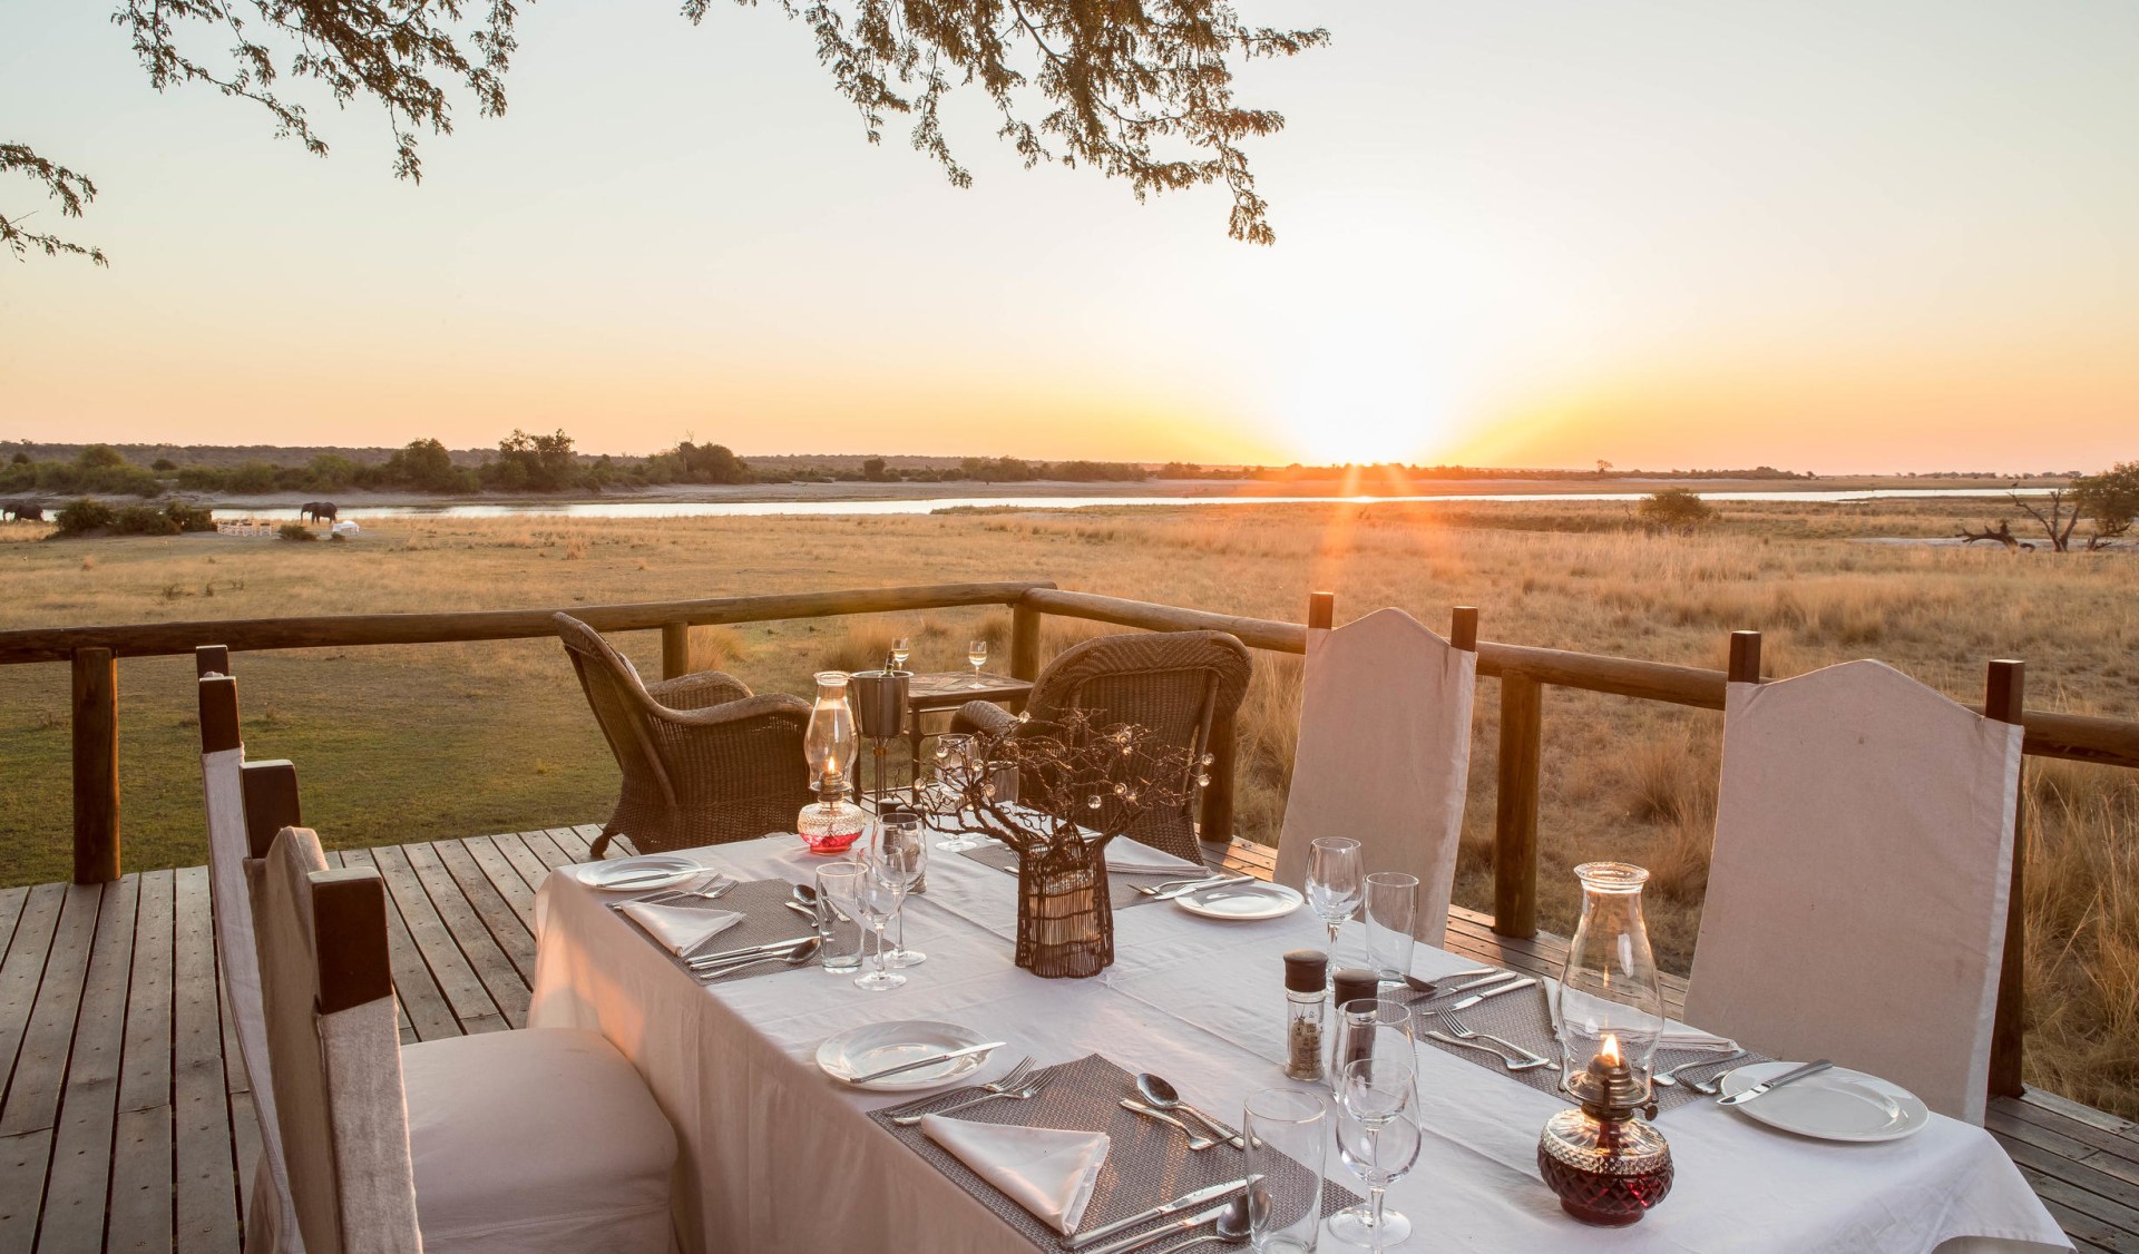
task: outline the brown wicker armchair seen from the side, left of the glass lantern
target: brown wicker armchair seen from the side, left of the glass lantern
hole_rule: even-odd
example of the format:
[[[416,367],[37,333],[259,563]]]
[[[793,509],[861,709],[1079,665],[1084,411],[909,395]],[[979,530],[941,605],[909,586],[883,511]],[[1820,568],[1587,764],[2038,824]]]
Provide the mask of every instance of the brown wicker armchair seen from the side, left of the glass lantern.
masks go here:
[[[751,689],[721,672],[642,683],[637,668],[571,614],[556,633],[580,672],[625,792],[601,826],[595,856],[612,837],[640,852],[753,841],[794,830],[811,800],[802,698]]]

